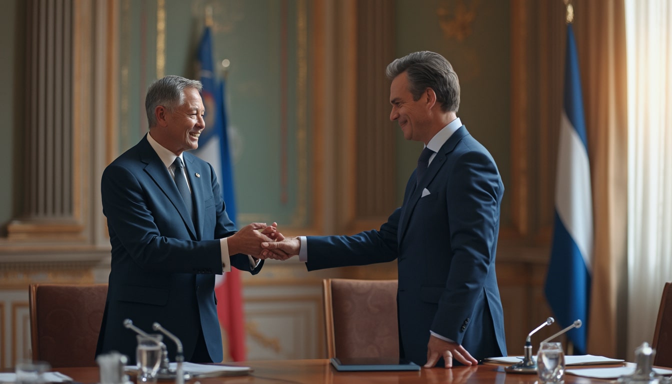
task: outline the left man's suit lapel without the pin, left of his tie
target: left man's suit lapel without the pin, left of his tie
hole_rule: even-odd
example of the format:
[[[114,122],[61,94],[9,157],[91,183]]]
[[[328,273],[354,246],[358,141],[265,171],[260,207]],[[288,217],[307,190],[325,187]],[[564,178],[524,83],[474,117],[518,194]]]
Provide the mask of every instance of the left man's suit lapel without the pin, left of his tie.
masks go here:
[[[175,180],[171,177],[170,172],[161,161],[161,158],[159,158],[159,155],[157,155],[152,146],[149,145],[149,141],[147,141],[146,137],[142,139],[141,143],[143,148],[140,151],[140,159],[146,164],[144,171],[152,178],[152,180],[154,180],[161,192],[163,192],[163,194],[165,194],[165,196],[173,203],[173,206],[175,206],[179,216],[189,230],[190,235],[193,239],[196,239],[194,223],[187,212],[187,206],[185,206],[182,196],[177,190]]]

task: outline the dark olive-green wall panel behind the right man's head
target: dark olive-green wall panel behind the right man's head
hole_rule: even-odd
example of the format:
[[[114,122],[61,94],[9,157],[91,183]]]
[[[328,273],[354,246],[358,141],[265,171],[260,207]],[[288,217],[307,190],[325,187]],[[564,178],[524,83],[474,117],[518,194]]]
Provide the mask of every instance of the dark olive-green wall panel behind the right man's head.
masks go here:
[[[471,33],[459,41],[444,35],[438,9],[456,11],[460,4],[474,11]],[[472,8],[476,5],[476,7]],[[509,1],[396,0],[396,55],[418,50],[442,54],[460,78],[458,117],[473,137],[492,153],[505,188],[509,185],[511,66]],[[454,13],[452,14],[454,16]],[[398,128],[398,126],[397,126]],[[421,143],[407,142],[397,132],[397,190],[403,194],[415,169]],[[400,200],[401,201],[401,200]],[[503,217],[509,215],[505,193]]]

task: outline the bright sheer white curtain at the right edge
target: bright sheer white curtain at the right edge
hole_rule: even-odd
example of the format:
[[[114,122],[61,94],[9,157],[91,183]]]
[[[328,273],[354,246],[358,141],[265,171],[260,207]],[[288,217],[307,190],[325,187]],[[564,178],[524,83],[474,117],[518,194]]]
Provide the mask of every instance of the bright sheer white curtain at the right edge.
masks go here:
[[[672,281],[672,1],[626,0],[628,360]]]

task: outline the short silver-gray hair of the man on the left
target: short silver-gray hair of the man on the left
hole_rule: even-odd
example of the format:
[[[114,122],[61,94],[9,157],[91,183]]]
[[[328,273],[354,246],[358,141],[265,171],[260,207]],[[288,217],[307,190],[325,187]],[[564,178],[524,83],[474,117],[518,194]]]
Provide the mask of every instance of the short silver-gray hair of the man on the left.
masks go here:
[[[198,80],[185,79],[181,76],[169,75],[154,81],[147,89],[147,96],[144,98],[144,108],[147,111],[147,122],[149,128],[157,125],[157,118],[154,111],[158,106],[164,106],[172,111],[184,102],[184,89],[196,88],[200,92],[203,85]]]

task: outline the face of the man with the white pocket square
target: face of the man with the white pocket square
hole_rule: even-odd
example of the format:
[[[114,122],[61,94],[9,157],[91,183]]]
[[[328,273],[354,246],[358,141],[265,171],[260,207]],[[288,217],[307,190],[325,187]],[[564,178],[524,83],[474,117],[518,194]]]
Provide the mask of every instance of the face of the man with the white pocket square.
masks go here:
[[[413,100],[413,94],[409,90],[409,79],[406,72],[400,73],[392,80],[390,85],[390,120],[396,120],[404,132],[404,139],[423,141],[427,126],[430,124],[429,108],[425,93],[419,100]],[[431,139],[431,137],[430,137]]]

